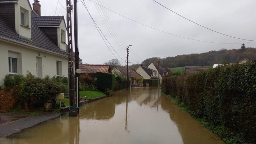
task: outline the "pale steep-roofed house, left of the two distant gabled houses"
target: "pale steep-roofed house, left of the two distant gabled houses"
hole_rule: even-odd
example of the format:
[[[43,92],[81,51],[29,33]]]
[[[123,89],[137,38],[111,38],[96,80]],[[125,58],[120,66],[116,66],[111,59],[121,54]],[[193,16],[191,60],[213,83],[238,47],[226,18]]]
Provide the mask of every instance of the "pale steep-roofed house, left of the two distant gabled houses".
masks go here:
[[[136,72],[139,73],[144,80],[158,79],[158,76],[156,75],[157,71],[146,66],[139,66],[139,68],[136,69]]]

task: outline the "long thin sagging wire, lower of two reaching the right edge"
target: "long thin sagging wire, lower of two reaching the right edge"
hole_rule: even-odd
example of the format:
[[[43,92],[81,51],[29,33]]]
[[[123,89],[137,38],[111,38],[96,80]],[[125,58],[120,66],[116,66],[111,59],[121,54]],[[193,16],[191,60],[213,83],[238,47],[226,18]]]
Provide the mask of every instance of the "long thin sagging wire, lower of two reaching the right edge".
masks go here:
[[[91,1],[91,0],[90,0]],[[93,2],[93,1],[91,1],[91,2]],[[95,3],[95,2],[93,2],[93,3]],[[98,3],[96,3],[97,5],[100,5],[100,4],[98,4]],[[101,7],[103,7],[102,5],[100,5]],[[109,11],[111,11],[111,12],[114,12],[113,10],[110,10],[110,9],[108,9],[108,8],[106,8],[106,7],[103,7],[103,8],[105,8],[105,9],[107,9],[107,10],[109,10]],[[118,14],[117,12],[114,12],[115,14]],[[119,16],[122,16],[122,17],[124,17],[124,18],[126,18],[126,19],[129,19],[129,20],[131,20],[131,21],[134,21],[135,23],[139,23],[139,24],[141,24],[141,25],[143,25],[143,26],[147,26],[146,24],[142,24],[142,23],[140,23],[140,22],[138,22],[138,21],[135,21],[135,20],[133,20],[133,19],[130,19],[130,18],[128,18],[128,17],[126,17],[126,16],[123,16],[123,15],[121,15],[121,14],[118,14]],[[184,37],[184,36],[179,36],[179,35],[174,35],[174,34],[172,34],[172,33],[168,33],[168,32],[166,32],[166,31],[162,31],[162,30],[160,30],[160,29],[156,29],[156,28],[153,28],[153,27],[151,27],[151,26],[147,26],[148,28],[152,28],[152,29],[155,29],[155,30],[157,30],[157,31],[161,31],[161,32],[163,32],[163,33],[167,33],[167,34],[169,34],[169,35],[173,35],[173,36],[177,36],[177,37],[181,37],[181,38],[186,38],[186,37]],[[193,38],[186,38],[186,39],[189,39],[189,40],[195,40],[195,41],[198,41],[198,42],[206,42],[206,43],[219,43],[219,42],[209,42],[209,41],[203,41],[203,40],[196,40],[196,39],[193,39]],[[244,42],[244,43],[252,43],[252,42]],[[240,44],[240,43],[219,43],[219,44]]]

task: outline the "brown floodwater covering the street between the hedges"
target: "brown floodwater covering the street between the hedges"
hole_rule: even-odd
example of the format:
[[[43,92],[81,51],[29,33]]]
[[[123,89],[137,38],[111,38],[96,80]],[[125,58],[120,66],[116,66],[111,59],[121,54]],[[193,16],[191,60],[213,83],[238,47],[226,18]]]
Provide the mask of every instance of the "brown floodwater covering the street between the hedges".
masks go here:
[[[0,144],[223,144],[158,88],[132,88],[1,137]]]

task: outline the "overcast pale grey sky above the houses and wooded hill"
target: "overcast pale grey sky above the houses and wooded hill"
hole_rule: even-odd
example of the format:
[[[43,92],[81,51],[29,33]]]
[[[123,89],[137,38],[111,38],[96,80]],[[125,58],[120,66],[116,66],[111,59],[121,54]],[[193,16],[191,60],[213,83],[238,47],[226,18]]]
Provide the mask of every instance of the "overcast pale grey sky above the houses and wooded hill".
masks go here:
[[[242,43],[245,47],[256,47],[256,42],[247,41],[256,40],[256,0],[155,1],[161,5],[154,0],[78,0],[79,57],[88,64],[103,64],[117,58],[125,65],[126,46],[130,44],[130,64],[150,57],[239,49]],[[82,2],[102,31],[105,42]],[[40,4],[42,16],[67,15],[66,0],[40,0]],[[210,31],[167,8],[209,29],[246,40]]]

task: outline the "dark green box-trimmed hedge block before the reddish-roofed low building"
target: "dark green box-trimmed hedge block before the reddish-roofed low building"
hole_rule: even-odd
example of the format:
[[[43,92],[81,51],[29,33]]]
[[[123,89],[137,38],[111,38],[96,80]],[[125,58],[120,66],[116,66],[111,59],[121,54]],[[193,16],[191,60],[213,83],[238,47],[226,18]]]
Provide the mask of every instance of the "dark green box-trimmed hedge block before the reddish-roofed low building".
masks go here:
[[[115,82],[116,82],[116,76],[110,73],[96,73],[97,78],[97,89],[105,92],[107,88],[110,90],[114,90],[115,88]]]

